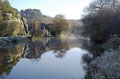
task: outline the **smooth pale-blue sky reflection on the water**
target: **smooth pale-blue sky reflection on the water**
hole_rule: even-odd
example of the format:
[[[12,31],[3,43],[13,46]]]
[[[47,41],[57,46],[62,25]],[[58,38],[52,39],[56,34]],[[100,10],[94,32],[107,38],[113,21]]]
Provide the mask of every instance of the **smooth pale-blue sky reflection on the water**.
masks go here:
[[[85,75],[79,48],[67,51],[64,58],[56,58],[52,51],[42,55],[37,63],[21,59],[7,79],[81,79]]]

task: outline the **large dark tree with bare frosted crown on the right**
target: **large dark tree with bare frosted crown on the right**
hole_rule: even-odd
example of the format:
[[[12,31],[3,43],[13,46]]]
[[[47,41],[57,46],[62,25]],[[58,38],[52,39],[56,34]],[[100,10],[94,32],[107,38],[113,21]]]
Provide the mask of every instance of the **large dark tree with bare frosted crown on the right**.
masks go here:
[[[120,35],[120,1],[94,0],[84,16],[84,35],[96,42],[104,42],[111,35]]]

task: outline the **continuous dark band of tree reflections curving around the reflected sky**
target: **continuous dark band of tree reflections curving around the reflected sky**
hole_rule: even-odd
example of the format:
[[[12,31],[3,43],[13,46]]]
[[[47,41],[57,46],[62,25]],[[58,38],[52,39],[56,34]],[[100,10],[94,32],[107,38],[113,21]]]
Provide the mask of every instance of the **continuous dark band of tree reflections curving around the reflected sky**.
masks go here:
[[[82,56],[83,62],[87,65],[104,51],[99,45],[82,39],[61,40],[56,38],[43,38],[34,42],[29,41],[27,43],[6,46],[4,48],[1,47],[0,79],[6,79],[12,71],[12,68],[21,58],[37,60],[40,59],[44,53],[48,53],[49,51],[53,51],[56,58],[64,58],[67,51],[75,47],[90,52]],[[87,72],[86,66],[84,69]]]

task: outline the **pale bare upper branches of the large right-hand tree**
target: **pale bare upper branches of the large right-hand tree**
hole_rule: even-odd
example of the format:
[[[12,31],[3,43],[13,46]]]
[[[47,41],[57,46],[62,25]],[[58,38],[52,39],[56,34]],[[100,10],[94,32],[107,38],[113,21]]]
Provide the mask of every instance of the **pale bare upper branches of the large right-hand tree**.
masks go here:
[[[87,12],[87,14],[94,14],[103,8],[111,7],[115,9],[118,8],[119,5],[119,0],[94,0],[88,8],[85,8],[85,12]]]

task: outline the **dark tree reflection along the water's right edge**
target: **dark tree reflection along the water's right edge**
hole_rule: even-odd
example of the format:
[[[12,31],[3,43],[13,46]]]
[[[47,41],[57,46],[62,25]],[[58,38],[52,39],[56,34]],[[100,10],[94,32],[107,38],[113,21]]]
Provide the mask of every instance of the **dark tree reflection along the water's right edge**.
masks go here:
[[[85,75],[85,79],[92,79],[92,76],[89,72],[89,64],[92,60],[94,60],[96,57],[100,56],[104,49],[102,48],[101,44],[96,44],[93,42],[83,42],[82,48],[85,50],[88,50],[89,53],[84,54],[82,56],[83,61],[87,64],[87,66],[84,66],[85,71],[87,72]]]

